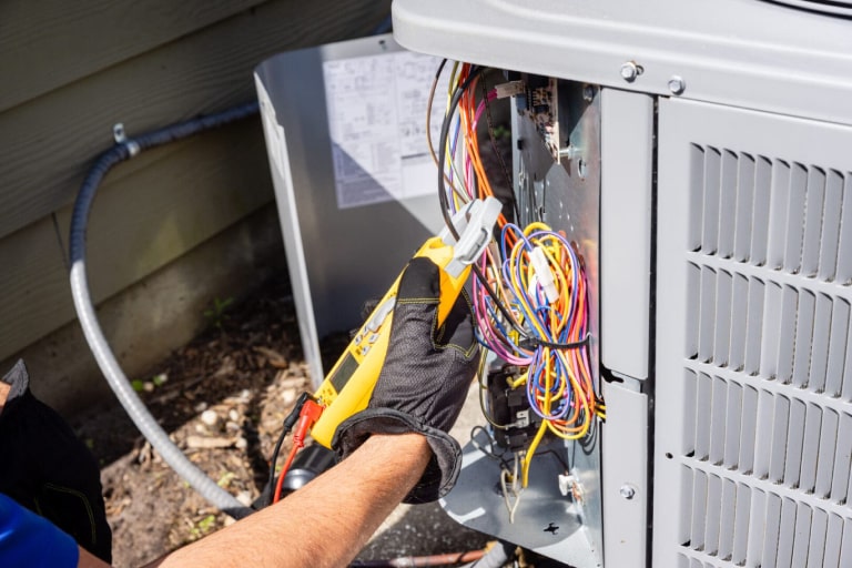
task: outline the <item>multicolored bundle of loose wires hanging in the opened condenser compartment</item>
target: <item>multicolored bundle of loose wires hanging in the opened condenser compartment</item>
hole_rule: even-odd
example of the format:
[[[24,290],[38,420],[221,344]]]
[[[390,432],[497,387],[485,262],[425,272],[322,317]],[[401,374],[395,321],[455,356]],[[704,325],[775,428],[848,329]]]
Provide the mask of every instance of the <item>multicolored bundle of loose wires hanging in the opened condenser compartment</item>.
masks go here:
[[[427,116],[445,63],[436,73]],[[488,105],[497,90],[487,90],[480,75],[474,65],[453,65],[437,152],[429,140],[439,169],[442,212],[453,233],[454,212],[473,199],[494,195],[477,125],[485,113],[494,144]],[[480,97],[477,85],[483,87]],[[505,166],[504,173],[508,178]],[[515,212],[517,217],[517,206]],[[526,367],[509,386],[524,387],[530,408],[541,418],[521,464],[526,487],[531,458],[546,433],[580,439],[591,430],[595,416],[606,414],[591,373],[588,291],[578,252],[564,234],[540,222],[521,229],[500,215],[498,226],[499,239],[473,266],[474,312],[480,343],[507,363]]]

